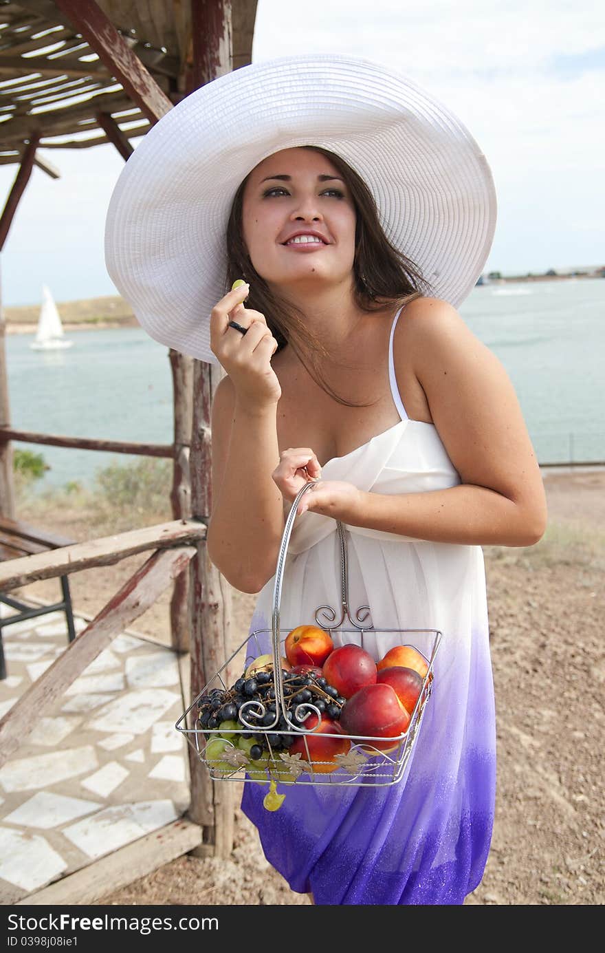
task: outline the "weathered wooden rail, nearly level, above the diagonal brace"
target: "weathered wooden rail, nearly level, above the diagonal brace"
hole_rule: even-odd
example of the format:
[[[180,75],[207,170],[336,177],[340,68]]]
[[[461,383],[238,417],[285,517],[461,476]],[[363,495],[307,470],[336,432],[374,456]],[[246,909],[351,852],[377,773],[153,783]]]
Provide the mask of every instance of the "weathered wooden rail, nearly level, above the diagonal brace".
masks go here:
[[[10,592],[37,579],[79,573],[92,566],[111,566],[121,559],[150,549],[192,543],[206,537],[206,524],[194,518],[158,523],[116,536],[74,543],[39,556],[26,556],[0,563],[0,592]]]

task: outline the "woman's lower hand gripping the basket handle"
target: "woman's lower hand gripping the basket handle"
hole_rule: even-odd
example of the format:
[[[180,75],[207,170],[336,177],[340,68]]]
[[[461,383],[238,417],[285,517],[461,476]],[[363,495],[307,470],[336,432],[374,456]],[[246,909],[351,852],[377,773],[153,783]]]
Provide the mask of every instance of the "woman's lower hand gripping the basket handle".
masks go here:
[[[361,496],[357,487],[344,480],[321,480],[321,467],[311,448],[291,448],[282,451],[279,457],[272,479],[289,503],[294,501],[305,483],[310,480],[314,483],[313,490],[301,497],[297,516],[309,510],[346,522],[357,513]]]

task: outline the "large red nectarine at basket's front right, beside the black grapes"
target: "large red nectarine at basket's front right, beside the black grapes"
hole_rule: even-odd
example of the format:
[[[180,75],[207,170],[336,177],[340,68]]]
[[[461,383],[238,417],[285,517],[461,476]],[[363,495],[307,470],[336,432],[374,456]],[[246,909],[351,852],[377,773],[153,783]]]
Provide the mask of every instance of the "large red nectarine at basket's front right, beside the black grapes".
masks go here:
[[[364,685],[342,706],[340,727],[347,735],[385,738],[371,741],[364,750],[392,751],[399,744],[392,739],[403,735],[410,724],[410,714],[397,698],[391,685],[376,682]]]

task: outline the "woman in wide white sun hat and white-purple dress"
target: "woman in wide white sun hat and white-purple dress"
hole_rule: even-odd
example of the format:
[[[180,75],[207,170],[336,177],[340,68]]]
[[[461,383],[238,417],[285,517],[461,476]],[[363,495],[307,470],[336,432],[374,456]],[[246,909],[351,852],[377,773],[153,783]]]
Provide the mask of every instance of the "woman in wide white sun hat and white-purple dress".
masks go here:
[[[367,61],[294,57],[209,87],[194,94],[189,113],[174,116],[180,104],[158,127],[167,142],[175,131],[187,138],[192,110],[224,120],[237,98],[235,128],[213,127],[218,145],[233,150],[218,172],[227,193],[220,214],[218,187],[204,177],[212,159],[204,145],[201,169],[185,173],[181,163],[189,181],[178,188],[199,199],[193,224],[181,221],[178,241],[176,229],[157,232],[161,203],[145,211],[165,149],[156,127],[137,167],[144,180],[127,176],[111,209],[110,252],[119,231],[122,253],[135,253],[123,263],[113,251],[108,264],[153,336],[209,359],[210,334],[211,359],[227,372],[212,407],[210,558],[235,588],[259,593],[251,632],[270,629],[285,512],[316,479],[292,532],[282,624],[313,623],[318,607],[338,606],[339,520],[350,608],[370,607],[375,634],[364,646],[374,658],[393,644],[381,627],[444,633],[404,781],[290,785],[274,814],[263,807],[264,791],[246,784],[242,806],[267,858],[313,902],[462,903],[481,880],[494,817],[480,547],[531,545],[546,521],[511,383],[455,311],[489,252],[491,176],[450,112]],[[166,172],[162,181],[168,208],[174,187]],[[183,233],[196,235],[199,278],[182,260]],[[211,259],[228,236],[223,289],[233,278],[247,281],[216,295],[210,329],[203,311],[192,320],[195,289],[199,307],[202,289],[207,300],[217,285],[218,264],[199,264],[200,235]],[[171,251],[181,257],[168,267]],[[191,291],[179,290],[179,277]],[[171,322],[158,316],[167,282],[180,295]],[[427,654],[422,635],[416,644]]]

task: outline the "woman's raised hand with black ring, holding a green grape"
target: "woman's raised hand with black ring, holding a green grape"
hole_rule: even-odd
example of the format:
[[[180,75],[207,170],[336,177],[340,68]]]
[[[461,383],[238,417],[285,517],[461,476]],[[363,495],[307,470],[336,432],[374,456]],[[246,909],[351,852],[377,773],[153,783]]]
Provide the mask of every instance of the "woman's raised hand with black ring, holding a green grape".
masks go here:
[[[265,406],[277,403],[281,396],[279,380],[271,366],[277,341],[267,327],[265,315],[244,307],[248,294],[250,286],[242,284],[212,308],[211,350],[231,377],[237,397],[252,406]],[[231,320],[246,328],[246,334],[231,328]]]

